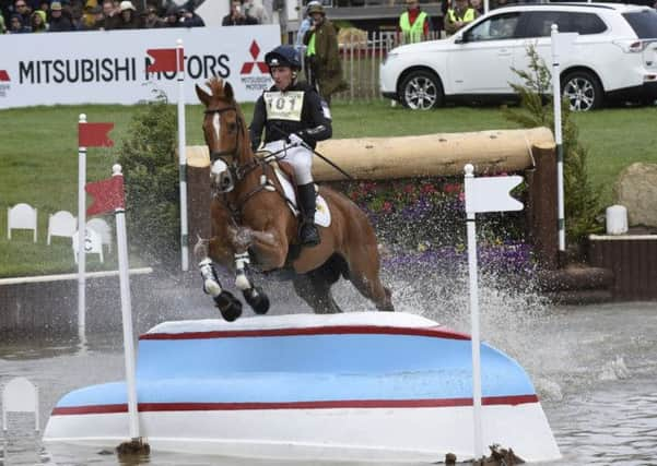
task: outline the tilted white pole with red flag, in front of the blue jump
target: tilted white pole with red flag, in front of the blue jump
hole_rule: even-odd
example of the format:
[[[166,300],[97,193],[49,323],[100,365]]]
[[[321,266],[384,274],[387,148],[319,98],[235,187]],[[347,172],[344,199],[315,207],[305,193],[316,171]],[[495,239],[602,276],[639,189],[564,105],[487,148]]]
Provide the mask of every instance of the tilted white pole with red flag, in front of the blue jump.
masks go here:
[[[122,177],[121,166],[112,167],[112,176]],[[122,195],[122,193],[121,193]],[[121,290],[121,320],[124,324],[124,356],[126,359],[126,385],[128,389],[128,416],[130,420],[130,438],[139,439],[139,413],[137,410],[137,381],[134,373],[134,340],[132,337],[132,306],[130,303],[130,276],[128,264],[128,237],[126,234],[126,211],[115,210],[116,243],[119,260],[119,284]]]

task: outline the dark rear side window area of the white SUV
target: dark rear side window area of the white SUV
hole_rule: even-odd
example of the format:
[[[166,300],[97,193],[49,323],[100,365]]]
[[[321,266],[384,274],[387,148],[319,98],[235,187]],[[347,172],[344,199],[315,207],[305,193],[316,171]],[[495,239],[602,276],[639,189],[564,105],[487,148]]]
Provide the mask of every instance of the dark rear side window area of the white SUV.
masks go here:
[[[523,37],[545,37],[551,33],[552,24],[560,33],[600,34],[607,25],[595,13],[575,13],[567,11],[532,11],[525,13],[527,23]]]

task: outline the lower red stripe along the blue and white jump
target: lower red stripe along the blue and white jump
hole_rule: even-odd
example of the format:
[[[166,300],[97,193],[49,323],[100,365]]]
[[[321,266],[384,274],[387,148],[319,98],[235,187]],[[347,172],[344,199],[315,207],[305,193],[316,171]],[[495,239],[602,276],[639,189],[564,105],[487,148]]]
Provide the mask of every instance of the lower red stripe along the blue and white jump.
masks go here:
[[[488,396],[482,404],[523,405],[538,403],[537,395]],[[446,399],[338,399],[325,402],[285,403],[140,403],[139,410],[148,411],[238,411],[254,409],[338,409],[338,408],[448,408],[472,406],[472,398]],[[128,413],[128,405],[92,405],[56,407],[52,416],[106,415]]]

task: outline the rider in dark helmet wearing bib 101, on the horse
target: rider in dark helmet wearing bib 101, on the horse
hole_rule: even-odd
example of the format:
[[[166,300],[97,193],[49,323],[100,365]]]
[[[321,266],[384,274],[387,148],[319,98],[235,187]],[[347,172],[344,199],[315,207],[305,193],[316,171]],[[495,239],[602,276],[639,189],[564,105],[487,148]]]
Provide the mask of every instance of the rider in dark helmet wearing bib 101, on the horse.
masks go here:
[[[263,150],[284,153],[285,160],[294,167],[302,214],[300,241],[306,247],[316,246],[320,239],[315,226],[313,150],[318,141],[332,134],[330,112],[315,88],[297,82],[301,57],[293,46],[274,48],[265,55],[265,61],[273,86],[256,103],[249,128],[251,147],[258,148],[265,129]]]

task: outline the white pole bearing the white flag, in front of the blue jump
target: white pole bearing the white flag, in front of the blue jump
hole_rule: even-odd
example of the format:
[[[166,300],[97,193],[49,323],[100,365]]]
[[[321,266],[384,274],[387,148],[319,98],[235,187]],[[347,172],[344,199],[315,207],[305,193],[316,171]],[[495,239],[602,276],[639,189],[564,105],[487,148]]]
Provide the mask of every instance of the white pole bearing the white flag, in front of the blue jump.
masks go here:
[[[474,178],[474,167],[466,165],[466,180]],[[467,212],[468,224],[468,274],[470,277],[470,321],[472,345],[472,426],[474,458],[483,456],[483,429],[481,421],[481,355],[479,338],[479,278],[477,267],[477,229],[474,213]]]

